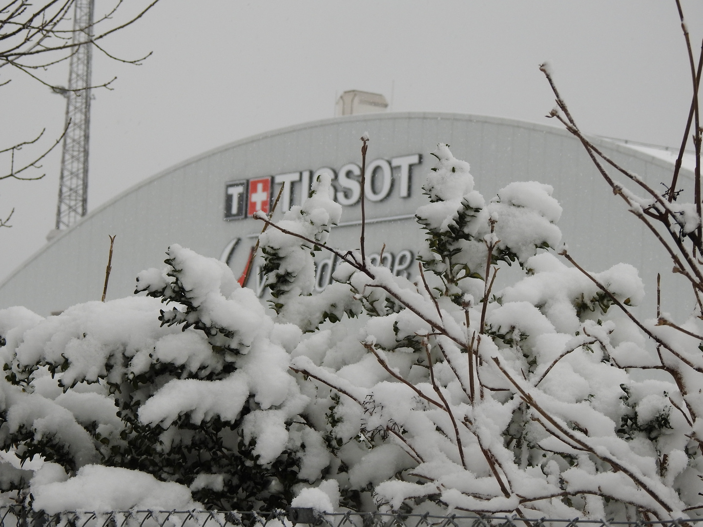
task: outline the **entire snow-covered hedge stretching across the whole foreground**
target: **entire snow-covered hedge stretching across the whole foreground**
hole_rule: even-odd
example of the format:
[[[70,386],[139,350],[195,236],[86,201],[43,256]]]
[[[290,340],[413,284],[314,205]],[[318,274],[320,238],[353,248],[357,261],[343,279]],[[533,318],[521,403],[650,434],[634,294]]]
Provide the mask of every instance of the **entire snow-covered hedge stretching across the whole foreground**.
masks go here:
[[[701,320],[638,327],[620,309],[643,299],[636,269],[555,254],[550,186],[486,202],[466,162],[435,155],[415,282],[330,249],[340,207],[321,179],[262,235],[274,309],[172,245],[138,276],[146,295],[0,311],[0,500],[695,515]],[[342,263],[312,295],[320,250]],[[498,290],[506,266],[520,276]]]

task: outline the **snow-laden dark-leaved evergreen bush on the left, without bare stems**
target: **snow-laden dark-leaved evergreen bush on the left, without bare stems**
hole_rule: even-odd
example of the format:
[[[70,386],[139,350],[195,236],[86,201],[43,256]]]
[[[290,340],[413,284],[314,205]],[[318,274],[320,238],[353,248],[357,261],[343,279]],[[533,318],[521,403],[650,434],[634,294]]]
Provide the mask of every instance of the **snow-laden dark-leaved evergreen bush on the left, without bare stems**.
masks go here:
[[[178,245],[168,254],[169,273],[141,273],[138,288],[177,304],[169,311],[147,296],[46,319],[2,312],[0,443],[56,464],[44,484],[103,464],[188,486],[209,507],[285,505],[300,438],[315,439],[299,419],[290,429],[309,402],[288,373],[300,330],[274,322],[223,263]],[[8,474],[4,490],[28,484],[37,498],[38,476]]]

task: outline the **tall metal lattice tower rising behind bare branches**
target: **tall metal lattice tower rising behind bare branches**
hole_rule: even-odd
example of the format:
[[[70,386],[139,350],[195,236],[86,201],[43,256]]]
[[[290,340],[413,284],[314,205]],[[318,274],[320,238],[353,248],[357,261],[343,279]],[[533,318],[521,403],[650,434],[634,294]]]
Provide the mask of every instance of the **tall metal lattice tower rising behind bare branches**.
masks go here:
[[[94,0],[76,0],[73,43],[91,39]],[[72,226],[88,205],[88,141],[90,138],[91,44],[81,44],[71,56],[66,97],[66,124],[58,184],[56,228]]]

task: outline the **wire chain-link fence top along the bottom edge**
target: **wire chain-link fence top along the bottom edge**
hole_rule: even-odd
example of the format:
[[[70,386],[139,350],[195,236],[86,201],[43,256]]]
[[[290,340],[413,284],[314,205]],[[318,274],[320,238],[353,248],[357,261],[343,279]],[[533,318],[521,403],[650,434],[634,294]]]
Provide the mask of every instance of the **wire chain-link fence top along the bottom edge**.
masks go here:
[[[703,527],[702,519],[612,521],[527,519],[475,514],[384,514],[344,512],[318,514],[313,509],[288,511],[112,511],[62,512],[49,515],[19,506],[0,507],[0,527]]]

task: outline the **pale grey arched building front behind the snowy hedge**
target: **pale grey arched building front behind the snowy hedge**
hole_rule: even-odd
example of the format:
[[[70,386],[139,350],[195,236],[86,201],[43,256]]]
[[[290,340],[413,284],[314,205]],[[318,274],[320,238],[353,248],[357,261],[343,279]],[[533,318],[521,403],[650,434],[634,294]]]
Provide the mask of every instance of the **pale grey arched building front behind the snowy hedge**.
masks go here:
[[[620,261],[632,263],[640,269],[650,295],[655,291],[650,285],[657,271],[662,271],[664,311],[685,314],[691,307],[677,299],[683,286],[671,277],[666,254],[612,195],[571,134],[496,117],[408,112],[291,126],[176,164],[103,204],[22,263],[0,284],[0,308],[23,305],[49,315],[100,299],[108,235],[117,235],[108,299],[132,294],[136,274],[162,266],[172,243],[228,260],[241,273],[262,228],[254,219],[236,217],[246,200],[259,190],[264,194],[257,194],[258,203],[270,203],[280,187],[277,182],[285,180],[288,191],[282,203],[298,204],[307,194],[306,178],[323,168],[332,170],[337,199],[345,203],[342,225],[333,229],[330,245],[358,247],[361,207],[358,200],[354,202],[350,181],[355,177],[352,165],[361,163],[359,138],[367,131],[367,163],[377,161],[367,189],[367,252],[378,254],[385,243],[385,261],[397,273],[415,268],[410,263],[422,233],[413,214],[425,200],[421,186],[434,159],[428,154],[437,143],[449,143],[456,157],[470,162],[477,190],[486,200],[512,181],[552,185],[553,195],[564,207],[559,222],[563,240],[583,266],[601,271]],[[671,178],[669,162],[605,139],[593,142],[653,186]],[[682,177],[692,178],[692,174],[682,170]],[[254,185],[247,195],[247,181],[254,180],[269,181],[271,188]],[[233,204],[241,196],[245,200]],[[326,264],[328,272],[334,262]],[[328,278],[320,280],[323,287]],[[261,287],[256,273],[249,285]]]

